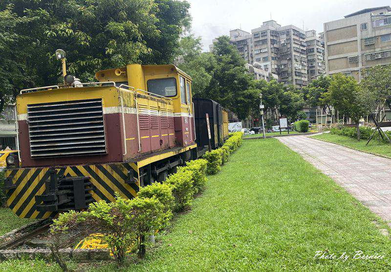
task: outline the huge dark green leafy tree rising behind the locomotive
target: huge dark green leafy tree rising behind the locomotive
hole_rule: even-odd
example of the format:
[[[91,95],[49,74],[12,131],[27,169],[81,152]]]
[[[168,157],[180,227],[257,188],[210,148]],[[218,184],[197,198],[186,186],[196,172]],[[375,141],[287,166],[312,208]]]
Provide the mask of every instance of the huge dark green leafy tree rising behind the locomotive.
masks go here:
[[[12,26],[11,60],[20,64],[9,78],[29,76],[8,89],[15,95],[20,88],[59,82],[58,48],[66,51],[68,72],[82,81],[129,63],[172,63],[190,25],[188,9],[189,3],[176,0],[1,1],[7,14],[0,16],[0,27]]]

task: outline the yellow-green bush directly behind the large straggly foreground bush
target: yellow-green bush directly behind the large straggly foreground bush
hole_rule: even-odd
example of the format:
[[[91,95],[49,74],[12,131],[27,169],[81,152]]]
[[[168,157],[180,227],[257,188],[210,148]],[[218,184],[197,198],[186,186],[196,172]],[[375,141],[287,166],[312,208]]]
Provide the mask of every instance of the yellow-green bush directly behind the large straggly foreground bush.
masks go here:
[[[172,210],[174,209],[175,199],[172,188],[168,184],[154,182],[151,185],[141,187],[137,193],[137,196],[139,198],[156,198],[160,201],[161,204],[163,204],[163,210],[167,216],[167,223],[172,218]]]

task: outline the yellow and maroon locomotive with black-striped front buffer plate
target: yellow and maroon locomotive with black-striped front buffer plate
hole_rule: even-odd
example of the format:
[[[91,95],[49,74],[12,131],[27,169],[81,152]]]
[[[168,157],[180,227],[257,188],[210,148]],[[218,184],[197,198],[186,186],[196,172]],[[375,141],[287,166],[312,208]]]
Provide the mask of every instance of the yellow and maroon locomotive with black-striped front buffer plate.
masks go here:
[[[198,157],[190,76],[174,65],[129,64],[96,79],[17,96],[20,158],[8,165],[4,188],[18,216],[53,217],[114,201],[115,192],[132,198]],[[222,144],[228,114],[219,111],[210,118]]]

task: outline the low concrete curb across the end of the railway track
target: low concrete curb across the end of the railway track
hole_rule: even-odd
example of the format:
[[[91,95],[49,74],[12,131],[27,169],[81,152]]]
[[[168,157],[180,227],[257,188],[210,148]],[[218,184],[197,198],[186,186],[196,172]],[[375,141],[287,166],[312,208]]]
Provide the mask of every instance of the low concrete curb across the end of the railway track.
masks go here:
[[[111,259],[109,250],[60,249],[59,251],[63,258],[74,259],[78,262],[89,262],[96,260],[107,261]],[[36,258],[51,259],[52,255],[49,249],[0,250],[0,261],[22,258],[27,258],[30,260]]]

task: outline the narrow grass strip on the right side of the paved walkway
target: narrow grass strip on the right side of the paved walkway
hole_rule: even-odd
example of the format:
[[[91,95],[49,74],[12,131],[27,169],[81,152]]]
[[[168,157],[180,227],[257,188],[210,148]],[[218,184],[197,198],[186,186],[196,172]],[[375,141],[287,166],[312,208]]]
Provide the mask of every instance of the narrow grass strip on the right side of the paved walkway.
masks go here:
[[[330,133],[323,133],[319,135],[311,136],[312,138],[335,143],[341,146],[347,146],[363,152],[385,156],[391,158],[391,144],[382,143],[376,140],[371,140],[366,146],[368,140],[357,141],[343,135],[335,135]]]

